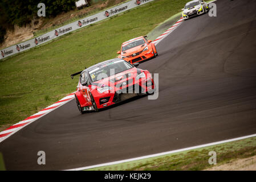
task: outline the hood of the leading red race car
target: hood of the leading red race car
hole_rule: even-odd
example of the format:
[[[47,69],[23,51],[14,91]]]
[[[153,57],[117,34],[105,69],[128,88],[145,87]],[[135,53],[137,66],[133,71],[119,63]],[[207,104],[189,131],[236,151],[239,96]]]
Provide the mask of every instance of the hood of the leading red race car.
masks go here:
[[[104,78],[99,81],[95,81],[92,85],[95,85],[97,88],[116,85],[120,82],[130,80],[131,78],[136,78],[136,76],[139,75],[141,72],[142,71],[139,68],[131,68],[124,72],[117,73],[116,75]]]

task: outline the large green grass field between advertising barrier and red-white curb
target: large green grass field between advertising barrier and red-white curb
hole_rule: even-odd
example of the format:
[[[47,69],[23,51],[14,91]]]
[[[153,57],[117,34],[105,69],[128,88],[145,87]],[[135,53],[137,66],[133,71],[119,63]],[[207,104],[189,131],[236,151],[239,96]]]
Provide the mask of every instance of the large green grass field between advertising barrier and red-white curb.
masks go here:
[[[74,92],[78,78],[71,73],[116,57],[121,43],[146,35],[185,2],[156,0],[0,61],[0,127]]]

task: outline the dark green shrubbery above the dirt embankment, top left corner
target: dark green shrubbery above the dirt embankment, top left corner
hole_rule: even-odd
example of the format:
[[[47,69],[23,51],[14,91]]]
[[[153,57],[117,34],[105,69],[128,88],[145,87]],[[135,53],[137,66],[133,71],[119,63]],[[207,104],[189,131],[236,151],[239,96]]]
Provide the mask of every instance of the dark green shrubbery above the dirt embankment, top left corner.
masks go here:
[[[31,19],[37,17],[38,3],[46,5],[46,17],[51,18],[59,13],[75,9],[75,1],[78,0],[1,0],[0,1],[0,43],[6,33],[6,28],[14,24],[25,26]]]

